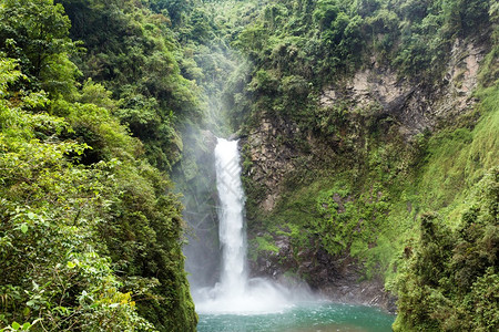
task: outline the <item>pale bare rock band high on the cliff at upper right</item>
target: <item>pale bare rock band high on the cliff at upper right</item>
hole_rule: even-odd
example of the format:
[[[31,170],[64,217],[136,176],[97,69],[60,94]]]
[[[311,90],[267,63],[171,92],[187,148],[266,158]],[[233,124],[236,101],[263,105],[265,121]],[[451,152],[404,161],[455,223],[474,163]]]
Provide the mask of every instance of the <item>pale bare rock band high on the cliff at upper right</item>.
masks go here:
[[[330,107],[343,100],[353,102],[357,108],[380,106],[378,116],[394,116],[400,124],[400,132],[410,138],[472,106],[476,102],[472,92],[478,84],[485,51],[478,40],[457,39],[444,80],[431,86],[409,81],[373,60],[369,69],[325,89],[320,106]]]

